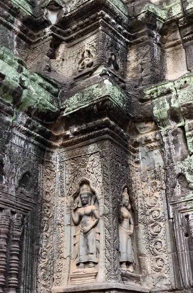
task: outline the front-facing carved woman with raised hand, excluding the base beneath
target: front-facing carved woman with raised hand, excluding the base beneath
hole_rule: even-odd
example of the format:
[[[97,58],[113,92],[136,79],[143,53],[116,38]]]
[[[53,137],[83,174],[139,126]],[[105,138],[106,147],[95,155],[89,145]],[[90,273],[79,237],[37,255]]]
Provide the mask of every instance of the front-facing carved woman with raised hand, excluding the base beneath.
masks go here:
[[[79,269],[85,268],[88,263],[89,268],[93,268],[97,259],[97,250],[99,251],[99,230],[96,228],[99,222],[99,211],[95,205],[91,205],[92,194],[87,185],[83,185],[80,192],[82,208],[78,209],[77,204],[71,207],[71,217],[75,225],[81,223],[80,230],[74,236],[78,244],[78,257],[76,264],[79,264]],[[78,209],[76,215],[74,211]]]

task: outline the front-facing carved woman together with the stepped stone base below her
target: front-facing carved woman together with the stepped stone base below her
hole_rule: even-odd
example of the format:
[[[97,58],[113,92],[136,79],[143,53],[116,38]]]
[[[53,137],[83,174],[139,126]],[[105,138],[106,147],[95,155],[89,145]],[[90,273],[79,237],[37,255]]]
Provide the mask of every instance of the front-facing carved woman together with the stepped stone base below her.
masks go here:
[[[100,232],[97,228],[100,216],[95,205],[96,196],[88,182],[81,184],[79,189],[70,208],[72,223],[78,226],[73,234],[75,254],[70,274],[72,285],[95,282],[100,251]]]

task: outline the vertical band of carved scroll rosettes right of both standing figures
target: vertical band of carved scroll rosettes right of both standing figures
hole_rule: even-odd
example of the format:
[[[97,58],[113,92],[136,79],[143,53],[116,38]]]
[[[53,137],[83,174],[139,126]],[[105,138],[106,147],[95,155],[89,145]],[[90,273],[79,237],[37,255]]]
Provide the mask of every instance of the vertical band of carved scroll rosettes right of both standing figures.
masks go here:
[[[166,226],[161,194],[159,168],[141,174],[141,186],[145,207],[148,243],[151,251],[151,267],[154,284],[170,285],[169,259],[166,242]]]

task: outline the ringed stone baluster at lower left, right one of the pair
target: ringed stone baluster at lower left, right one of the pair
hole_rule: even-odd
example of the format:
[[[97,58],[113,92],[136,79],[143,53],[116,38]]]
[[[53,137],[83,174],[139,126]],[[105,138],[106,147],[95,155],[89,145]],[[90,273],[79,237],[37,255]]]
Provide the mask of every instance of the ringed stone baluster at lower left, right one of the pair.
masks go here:
[[[13,232],[10,246],[10,263],[8,293],[16,293],[18,287],[18,270],[19,270],[19,242],[22,232],[22,215],[16,213],[13,220]]]

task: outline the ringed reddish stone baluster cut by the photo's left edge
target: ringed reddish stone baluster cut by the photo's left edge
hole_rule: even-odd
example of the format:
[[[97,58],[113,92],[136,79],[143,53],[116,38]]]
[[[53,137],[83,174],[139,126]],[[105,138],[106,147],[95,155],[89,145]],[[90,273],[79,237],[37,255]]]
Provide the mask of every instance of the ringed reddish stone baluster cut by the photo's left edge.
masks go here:
[[[0,214],[0,293],[3,293],[6,270],[7,237],[9,233],[10,210],[3,209]]]

